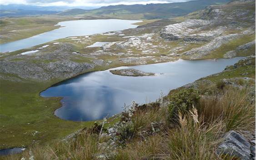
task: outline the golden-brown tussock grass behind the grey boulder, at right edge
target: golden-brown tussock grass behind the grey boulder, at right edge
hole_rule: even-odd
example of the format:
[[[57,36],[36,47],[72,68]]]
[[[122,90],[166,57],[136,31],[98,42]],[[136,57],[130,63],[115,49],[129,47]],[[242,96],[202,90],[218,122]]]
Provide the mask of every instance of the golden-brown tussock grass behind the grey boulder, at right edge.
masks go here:
[[[255,101],[250,97],[248,89],[227,87],[221,94],[201,98],[199,114],[206,121],[218,118],[225,123],[225,130],[255,129]]]

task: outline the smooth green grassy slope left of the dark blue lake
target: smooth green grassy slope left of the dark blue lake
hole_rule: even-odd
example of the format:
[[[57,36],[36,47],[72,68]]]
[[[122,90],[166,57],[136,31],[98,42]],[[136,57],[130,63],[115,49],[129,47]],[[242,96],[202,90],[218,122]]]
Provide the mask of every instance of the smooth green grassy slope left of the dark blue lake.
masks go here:
[[[61,97],[40,97],[39,92],[47,87],[49,82],[1,80],[0,149],[27,146],[33,142],[44,143],[91,124],[64,121],[53,115],[54,110],[61,106]],[[40,133],[33,136],[35,131]]]

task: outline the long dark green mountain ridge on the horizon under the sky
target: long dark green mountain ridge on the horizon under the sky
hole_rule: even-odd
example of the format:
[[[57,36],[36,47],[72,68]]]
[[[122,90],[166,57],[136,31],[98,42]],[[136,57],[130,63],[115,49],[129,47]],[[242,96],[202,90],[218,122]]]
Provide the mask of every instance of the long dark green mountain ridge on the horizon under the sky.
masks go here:
[[[187,15],[207,5],[226,4],[231,0],[193,0],[180,3],[147,5],[110,5],[94,10],[66,10],[58,15],[104,15],[120,19],[163,19]]]

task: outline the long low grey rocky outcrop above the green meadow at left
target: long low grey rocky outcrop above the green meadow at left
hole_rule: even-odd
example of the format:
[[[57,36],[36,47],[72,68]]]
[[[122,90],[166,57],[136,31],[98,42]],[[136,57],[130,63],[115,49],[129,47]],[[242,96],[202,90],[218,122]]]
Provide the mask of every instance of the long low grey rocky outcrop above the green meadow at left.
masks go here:
[[[20,78],[32,78],[37,81],[45,81],[52,78],[71,78],[82,72],[90,71],[95,66],[95,64],[76,63],[70,60],[62,60],[50,63],[33,63],[26,60],[1,61],[0,72],[16,74]],[[8,77],[9,76],[6,75],[1,76],[2,79],[6,79]],[[17,78],[13,80],[16,81]]]

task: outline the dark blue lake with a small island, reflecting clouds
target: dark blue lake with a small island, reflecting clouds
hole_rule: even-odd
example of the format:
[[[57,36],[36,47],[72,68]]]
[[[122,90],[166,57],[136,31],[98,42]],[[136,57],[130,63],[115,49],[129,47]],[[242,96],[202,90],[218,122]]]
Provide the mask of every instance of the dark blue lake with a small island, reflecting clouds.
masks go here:
[[[57,83],[40,93],[42,97],[64,97],[62,107],[55,111],[61,119],[92,121],[123,111],[124,104],[155,102],[161,91],[168,94],[171,89],[195,80],[219,73],[226,65],[232,65],[241,57],[214,60],[178,60],[113,69],[136,68],[157,76],[127,77],[114,75],[109,70],[85,73]],[[160,74],[164,73],[164,74]]]

